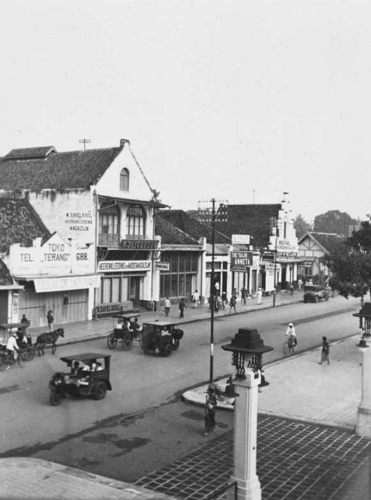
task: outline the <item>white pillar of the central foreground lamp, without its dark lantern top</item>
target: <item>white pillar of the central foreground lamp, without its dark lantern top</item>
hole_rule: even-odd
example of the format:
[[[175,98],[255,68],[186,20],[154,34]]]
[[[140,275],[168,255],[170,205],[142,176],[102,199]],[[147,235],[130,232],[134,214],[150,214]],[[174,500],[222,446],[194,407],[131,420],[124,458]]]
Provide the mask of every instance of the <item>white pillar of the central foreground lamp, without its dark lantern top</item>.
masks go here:
[[[238,500],[260,500],[260,481],[256,475],[256,441],[258,430],[258,379],[254,372],[246,370],[246,379],[235,379],[235,391],[240,394],[235,399],[235,429],[233,443],[233,476],[237,481]],[[235,500],[234,489],[228,491],[228,500]]]

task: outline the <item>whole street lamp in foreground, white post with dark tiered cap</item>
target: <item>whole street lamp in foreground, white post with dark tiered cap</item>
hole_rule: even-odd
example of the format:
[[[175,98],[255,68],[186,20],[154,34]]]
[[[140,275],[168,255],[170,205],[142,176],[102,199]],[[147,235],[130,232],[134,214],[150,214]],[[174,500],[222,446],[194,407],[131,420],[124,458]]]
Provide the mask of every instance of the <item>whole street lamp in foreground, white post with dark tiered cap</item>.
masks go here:
[[[265,346],[258,330],[240,328],[230,344],[222,346],[232,352],[236,374],[233,384],[238,389],[235,399],[235,426],[233,436],[233,476],[237,483],[238,500],[260,500],[260,481],[256,474],[256,441],[258,429],[258,387],[268,382],[261,374],[263,353],[272,351]],[[228,500],[234,500],[234,492]]]

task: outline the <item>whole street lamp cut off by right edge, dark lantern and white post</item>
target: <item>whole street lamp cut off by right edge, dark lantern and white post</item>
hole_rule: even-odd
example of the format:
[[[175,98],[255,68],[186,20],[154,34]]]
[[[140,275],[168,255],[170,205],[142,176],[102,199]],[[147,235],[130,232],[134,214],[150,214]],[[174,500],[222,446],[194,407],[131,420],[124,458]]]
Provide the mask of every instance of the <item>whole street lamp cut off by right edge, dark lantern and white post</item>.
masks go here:
[[[357,408],[357,436],[371,438],[371,302],[365,302],[359,313],[353,316],[360,319],[361,338],[357,347],[362,351],[362,396]]]

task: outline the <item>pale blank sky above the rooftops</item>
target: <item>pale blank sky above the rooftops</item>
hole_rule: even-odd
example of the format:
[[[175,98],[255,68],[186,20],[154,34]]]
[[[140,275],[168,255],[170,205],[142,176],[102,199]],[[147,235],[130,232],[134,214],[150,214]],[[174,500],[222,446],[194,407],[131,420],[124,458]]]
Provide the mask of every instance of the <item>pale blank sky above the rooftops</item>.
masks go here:
[[[0,156],[129,139],[173,209],[371,213],[370,0],[0,0]],[[1,185],[1,179],[0,179]]]

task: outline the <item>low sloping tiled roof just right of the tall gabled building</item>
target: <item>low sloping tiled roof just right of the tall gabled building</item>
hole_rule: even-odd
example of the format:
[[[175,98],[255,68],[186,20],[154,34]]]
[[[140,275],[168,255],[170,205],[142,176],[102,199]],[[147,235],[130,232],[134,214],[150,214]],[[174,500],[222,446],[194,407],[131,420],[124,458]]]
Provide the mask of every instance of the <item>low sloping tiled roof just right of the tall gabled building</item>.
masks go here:
[[[193,239],[198,241],[200,238],[206,238],[208,243],[211,243],[212,230],[209,224],[204,224],[194,219],[183,210],[164,210],[161,211],[160,214],[162,219],[171,222],[173,226],[189,234]],[[230,238],[220,233],[220,231],[215,231],[215,243],[230,244]]]

